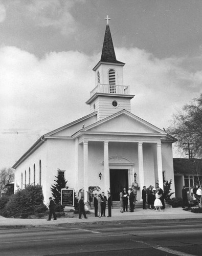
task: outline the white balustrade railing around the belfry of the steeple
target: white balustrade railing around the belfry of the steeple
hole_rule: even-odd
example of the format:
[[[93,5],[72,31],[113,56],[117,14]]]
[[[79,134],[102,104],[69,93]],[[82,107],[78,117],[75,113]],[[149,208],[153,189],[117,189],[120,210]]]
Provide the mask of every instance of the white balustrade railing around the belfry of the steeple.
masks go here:
[[[98,83],[98,85],[91,91],[91,96],[93,96],[95,93],[129,94],[129,86]]]

